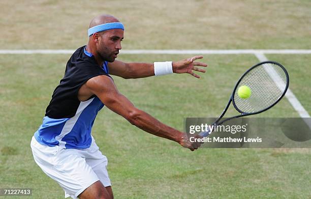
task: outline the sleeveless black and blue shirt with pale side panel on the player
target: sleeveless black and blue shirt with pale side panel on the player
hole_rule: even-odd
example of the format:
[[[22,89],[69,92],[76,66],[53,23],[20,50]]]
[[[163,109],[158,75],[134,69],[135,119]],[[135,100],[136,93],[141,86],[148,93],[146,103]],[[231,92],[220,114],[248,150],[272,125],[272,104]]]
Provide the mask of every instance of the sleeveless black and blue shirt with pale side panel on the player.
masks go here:
[[[78,91],[90,78],[109,76],[107,62],[99,66],[86,46],[78,48],[67,62],[65,76],[53,92],[43,123],[35,133],[42,145],[85,149],[91,145],[91,128],[104,104],[97,96],[79,101]]]

